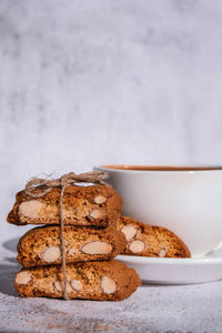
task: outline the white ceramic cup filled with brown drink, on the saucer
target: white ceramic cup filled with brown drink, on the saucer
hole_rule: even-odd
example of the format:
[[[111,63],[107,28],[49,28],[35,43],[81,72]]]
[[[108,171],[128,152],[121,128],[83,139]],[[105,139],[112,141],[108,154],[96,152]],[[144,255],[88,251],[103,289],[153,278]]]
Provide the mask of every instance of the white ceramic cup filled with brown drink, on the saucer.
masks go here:
[[[123,215],[168,228],[186,243],[192,256],[204,255],[222,241],[222,167],[94,170],[109,174],[108,181],[123,200]]]

